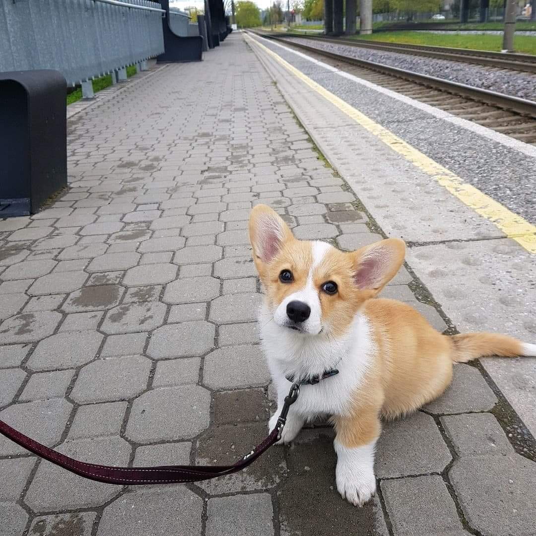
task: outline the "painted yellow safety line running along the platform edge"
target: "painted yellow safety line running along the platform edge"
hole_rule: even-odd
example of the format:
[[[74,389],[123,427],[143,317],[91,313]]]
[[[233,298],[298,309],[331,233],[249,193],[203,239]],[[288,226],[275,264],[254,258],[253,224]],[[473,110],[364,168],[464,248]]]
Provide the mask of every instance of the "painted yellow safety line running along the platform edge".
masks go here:
[[[364,129],[373,133],[374,136],[382,140],[393,151],[401,154],[406,160],[410,161],[415,167],[425,172],[443,187],[445,187],[453,196],[457,197],[462,203],[471,207],[475,212],[491,221],[498,229],[506,234],[512,240],[515,240],[519,245],[536,254],[536,227],[530,224],[521,216],[511,212],[501,203],[496,202],[491,197],[482,193],[479,189],[471,184],[464,182],[458,175],[441,166],[425,154],[416,150],[415,147],[407,144],[403,139],[394,135],[390,130],[371,120],[360,111],[350,106],[347,102],[340,99],[324,87],[311,80],[301,71],[297,70],[293,65],[286,62],[262,43],[248,36],[256,46],[262,48],[266,54],[272,56],[278,63],[284,66],[297,78],[306,83],[314,91],[322,95],[327,101],[331,102],[339,110],[351,117],[356,123],[360,124]]]

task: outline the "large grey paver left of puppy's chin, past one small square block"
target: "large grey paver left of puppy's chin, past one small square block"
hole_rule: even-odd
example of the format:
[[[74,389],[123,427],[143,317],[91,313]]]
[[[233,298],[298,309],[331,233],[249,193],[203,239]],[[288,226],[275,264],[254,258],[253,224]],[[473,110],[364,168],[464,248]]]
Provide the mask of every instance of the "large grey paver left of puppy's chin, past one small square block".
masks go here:
[[[203,355],[214,346],[214,335],[214,324],[209,322],[168,324],[154,331],[147,355],[155,359]]]

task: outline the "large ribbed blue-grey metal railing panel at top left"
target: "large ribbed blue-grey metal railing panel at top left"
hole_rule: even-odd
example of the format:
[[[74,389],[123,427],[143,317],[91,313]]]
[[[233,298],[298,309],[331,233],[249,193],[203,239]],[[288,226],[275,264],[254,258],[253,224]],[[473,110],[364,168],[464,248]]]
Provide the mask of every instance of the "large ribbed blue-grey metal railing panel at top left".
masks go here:
[[[0,0],[0,71],[56,69],[69,85],[164,51],[148,0]]]

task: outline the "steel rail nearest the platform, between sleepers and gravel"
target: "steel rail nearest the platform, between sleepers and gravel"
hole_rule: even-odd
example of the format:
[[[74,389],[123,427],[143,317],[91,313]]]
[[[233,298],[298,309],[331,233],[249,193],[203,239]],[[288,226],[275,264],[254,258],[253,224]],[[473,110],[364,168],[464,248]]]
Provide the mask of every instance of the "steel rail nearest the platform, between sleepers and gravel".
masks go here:
[[[536,102],[534,101],[521,99],[511,95],[505,95],[504,93],[483,90],[478,87],[468,86],[466,84],[460,84],[459,82],[452,82],[450,80],[444,80],[443,78],[437,78],[435,76],[421,75],[420,73],[405,71],[403,69],[398,69],[397,67],[391,67],[390,65],[369,62],[366,59],[358,59],[351,56],[345,56],[343,54],[336,54],[316,47],[309,47],[306,44],[288,41],[273,34],[260,34],[259,32],[254,33],[257,35],[262,35],[263,37],[267,36],[269,39],[292,44],[294,47],[301,48],[321,56],[326,56],[340,62],[351,63],[372,71],[381,72],[386,75],[391,75],[424,86],[438,88],[454,95],[468,97],[486,104],[498,106],[499,108],[503,108],[505,110],[515,111],[518,114],[528,115],[536,118]]]

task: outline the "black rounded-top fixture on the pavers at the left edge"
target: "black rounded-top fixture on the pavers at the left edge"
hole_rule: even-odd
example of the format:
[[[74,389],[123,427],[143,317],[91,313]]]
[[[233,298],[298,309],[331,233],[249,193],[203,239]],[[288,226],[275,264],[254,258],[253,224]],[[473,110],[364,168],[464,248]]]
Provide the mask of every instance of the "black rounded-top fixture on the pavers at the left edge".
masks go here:
[[[0,72],[0,218],[67,185],[66,88],[59,71]]]

